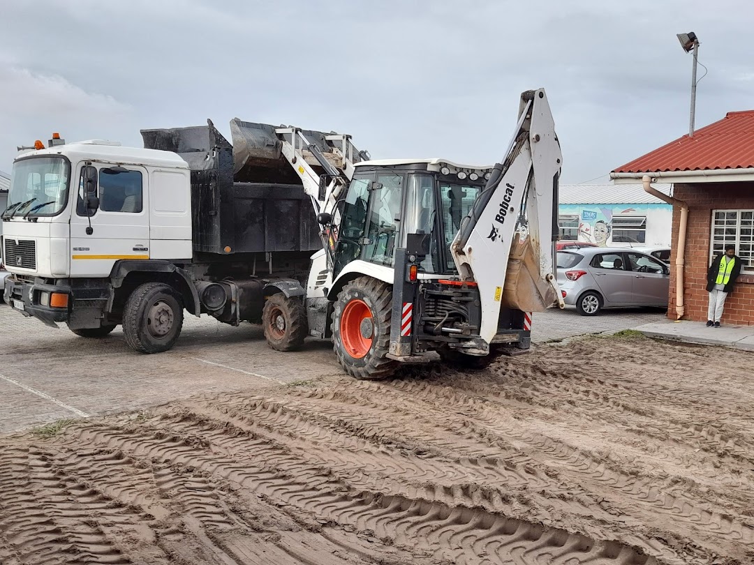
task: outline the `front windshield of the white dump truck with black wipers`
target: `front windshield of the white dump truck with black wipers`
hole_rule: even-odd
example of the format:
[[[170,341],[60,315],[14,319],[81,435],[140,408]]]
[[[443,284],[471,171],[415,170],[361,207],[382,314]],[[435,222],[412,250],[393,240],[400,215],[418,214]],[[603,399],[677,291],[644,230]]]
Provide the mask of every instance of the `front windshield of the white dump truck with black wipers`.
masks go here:
[[[71,165],[63,157],[30,157],[17,160],[11,174],[7,218],[60,214],[68,202]]]

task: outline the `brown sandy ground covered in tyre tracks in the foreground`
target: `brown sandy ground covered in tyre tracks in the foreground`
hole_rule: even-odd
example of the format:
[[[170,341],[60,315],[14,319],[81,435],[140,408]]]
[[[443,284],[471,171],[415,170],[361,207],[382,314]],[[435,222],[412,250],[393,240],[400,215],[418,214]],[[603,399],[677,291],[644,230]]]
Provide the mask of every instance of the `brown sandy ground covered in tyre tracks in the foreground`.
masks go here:
[[[0,563],[752,563],[752,362],[592,337],[5,437]]]

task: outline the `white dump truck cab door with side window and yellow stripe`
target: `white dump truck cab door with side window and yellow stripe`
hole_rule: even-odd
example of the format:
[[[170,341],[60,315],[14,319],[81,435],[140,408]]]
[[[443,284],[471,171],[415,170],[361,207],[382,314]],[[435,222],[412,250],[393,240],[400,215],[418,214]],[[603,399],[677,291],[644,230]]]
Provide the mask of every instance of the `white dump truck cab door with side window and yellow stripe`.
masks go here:
[[[119,259],[149,259],[149,176],[140,166],[96,165],[100,207],[84,209],[84,166],[71,217],[71,276],[108,276]],[[87,217],[88,213],[88,217]],[[91,226],[91,233],[87,228]]]

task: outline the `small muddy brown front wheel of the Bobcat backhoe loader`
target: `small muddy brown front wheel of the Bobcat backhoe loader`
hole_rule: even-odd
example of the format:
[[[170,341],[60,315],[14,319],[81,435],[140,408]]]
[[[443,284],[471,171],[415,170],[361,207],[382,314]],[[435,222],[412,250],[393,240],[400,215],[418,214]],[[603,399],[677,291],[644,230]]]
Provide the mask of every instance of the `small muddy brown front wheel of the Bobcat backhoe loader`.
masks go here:
[[[298,298],[288,298],[282,292],[271,295],[262,309],[262,329],[272,349],[301,349],[308,334],[304,304]]]

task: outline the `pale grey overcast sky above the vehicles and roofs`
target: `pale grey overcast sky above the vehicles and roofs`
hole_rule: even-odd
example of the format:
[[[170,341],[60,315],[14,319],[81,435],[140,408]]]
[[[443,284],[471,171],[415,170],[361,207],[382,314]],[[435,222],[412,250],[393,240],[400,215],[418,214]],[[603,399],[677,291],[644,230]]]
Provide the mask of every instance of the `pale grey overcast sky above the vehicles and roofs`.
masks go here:
[[[499,160],[544,87],[562,182],[754,109],[750,0],[0,0],[0,170],[17,145],[238,117],[351,133],[375,158]],[[699,76],[705,70],[700,66]]]

